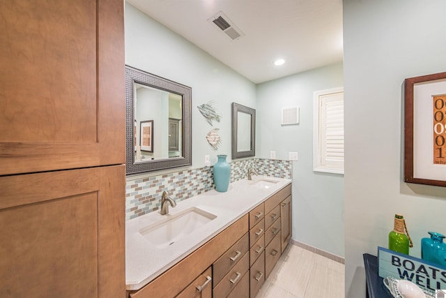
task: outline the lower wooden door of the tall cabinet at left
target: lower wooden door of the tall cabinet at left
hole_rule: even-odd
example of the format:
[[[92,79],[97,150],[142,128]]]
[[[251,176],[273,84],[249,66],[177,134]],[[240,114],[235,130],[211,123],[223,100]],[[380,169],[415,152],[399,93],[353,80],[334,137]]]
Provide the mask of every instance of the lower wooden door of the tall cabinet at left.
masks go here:
[[[124,165],[0,177],[0,297],[124,297]]]

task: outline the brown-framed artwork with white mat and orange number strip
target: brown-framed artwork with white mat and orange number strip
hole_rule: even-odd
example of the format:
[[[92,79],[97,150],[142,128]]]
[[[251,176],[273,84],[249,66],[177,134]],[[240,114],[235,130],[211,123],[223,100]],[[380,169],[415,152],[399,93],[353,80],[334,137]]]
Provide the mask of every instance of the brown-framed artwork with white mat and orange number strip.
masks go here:
[[[446,186],[446,73],[404,85],[404,181]]]

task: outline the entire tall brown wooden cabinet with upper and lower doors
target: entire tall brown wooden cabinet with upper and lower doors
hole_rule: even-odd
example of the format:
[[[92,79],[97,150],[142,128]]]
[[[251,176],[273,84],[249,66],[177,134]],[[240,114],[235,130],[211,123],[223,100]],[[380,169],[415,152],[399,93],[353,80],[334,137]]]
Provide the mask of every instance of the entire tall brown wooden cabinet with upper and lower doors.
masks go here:
[[[0,297],[125,297],[122,0],[0,6]]]

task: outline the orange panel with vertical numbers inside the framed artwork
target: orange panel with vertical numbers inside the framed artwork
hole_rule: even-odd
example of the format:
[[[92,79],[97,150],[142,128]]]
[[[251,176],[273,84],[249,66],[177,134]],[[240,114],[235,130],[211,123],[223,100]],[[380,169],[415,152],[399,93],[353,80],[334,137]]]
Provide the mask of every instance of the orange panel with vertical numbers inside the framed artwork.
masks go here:
[[[446,94],[433,98],[433,163],[446,165]]]

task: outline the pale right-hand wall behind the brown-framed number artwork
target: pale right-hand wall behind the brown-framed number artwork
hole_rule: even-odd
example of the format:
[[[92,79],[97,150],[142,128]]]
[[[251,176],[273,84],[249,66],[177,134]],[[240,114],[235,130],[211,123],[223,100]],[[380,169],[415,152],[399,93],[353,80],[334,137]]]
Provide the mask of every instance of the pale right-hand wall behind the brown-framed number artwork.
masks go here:
[[[446,71],[446,1],[344,0],[346,297],[364,297],[362,253],[406,218],[420,257],[446,233],[446,188],[403,183],[403,80]],[[446,177],[445,177],[446,179]]]

